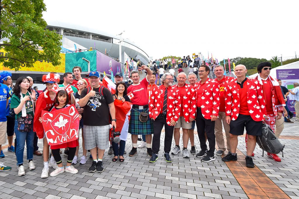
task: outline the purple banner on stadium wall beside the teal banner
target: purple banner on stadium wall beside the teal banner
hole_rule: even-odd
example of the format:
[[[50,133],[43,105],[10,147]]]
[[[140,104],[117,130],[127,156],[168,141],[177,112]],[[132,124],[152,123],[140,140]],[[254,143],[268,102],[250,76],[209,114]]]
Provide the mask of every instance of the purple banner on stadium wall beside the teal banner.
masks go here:
[[[106,75],[111,75],[111,67],[113,75],[115,75],[120,70],[120,62],[97,51],[97,71],[103,73],[105,71]]]

